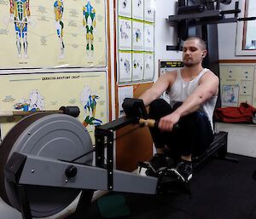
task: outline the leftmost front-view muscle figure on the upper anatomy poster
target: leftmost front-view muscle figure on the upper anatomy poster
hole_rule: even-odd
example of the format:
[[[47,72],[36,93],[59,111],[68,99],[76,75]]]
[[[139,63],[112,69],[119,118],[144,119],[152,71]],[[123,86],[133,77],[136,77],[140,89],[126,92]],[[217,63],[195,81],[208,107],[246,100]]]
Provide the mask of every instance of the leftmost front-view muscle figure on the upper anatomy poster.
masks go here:
[[[30,19],[29,0],[9,0],[10,20],[15,23],[16,46],[18,56],[21,57],[23,44],[24,58],[27,57],[27,24]]]

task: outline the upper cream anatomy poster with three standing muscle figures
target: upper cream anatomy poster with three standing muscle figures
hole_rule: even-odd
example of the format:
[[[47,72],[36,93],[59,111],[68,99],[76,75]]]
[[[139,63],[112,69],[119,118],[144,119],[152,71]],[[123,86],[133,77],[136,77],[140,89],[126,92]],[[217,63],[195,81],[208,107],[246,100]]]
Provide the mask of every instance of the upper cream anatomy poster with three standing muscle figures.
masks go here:
[[[106,0],[0,1],[0,69],[107,66]]]

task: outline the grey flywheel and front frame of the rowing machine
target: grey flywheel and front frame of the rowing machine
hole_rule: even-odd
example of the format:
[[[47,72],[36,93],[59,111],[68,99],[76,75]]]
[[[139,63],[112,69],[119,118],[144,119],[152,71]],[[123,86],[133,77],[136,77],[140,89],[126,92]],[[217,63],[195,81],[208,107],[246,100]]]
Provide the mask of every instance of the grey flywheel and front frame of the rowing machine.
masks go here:
[[[94,149],[83,124],[63,113],[30,113],[1,144],[1,198],[31,219],[55,215],[80,192],[87,201],[95,190],[157,193],[158,178],[113,170],[113,131],[131,123],[137,123],[134,115],[96,127],[92,165]]]

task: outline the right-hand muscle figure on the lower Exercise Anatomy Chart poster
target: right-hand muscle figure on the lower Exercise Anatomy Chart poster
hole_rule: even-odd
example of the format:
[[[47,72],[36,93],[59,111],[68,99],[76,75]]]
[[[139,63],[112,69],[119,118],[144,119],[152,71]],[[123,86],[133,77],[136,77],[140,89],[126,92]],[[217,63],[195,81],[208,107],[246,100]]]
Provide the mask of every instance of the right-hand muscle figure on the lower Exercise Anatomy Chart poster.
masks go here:
[[[96,117],[96,99],[99,99],[98,95],[93,95],[90,88],[85,86],[81,95],[80,101],[84,106],[84,126],[90,125],[100,125],[102,120],[95,118]]]

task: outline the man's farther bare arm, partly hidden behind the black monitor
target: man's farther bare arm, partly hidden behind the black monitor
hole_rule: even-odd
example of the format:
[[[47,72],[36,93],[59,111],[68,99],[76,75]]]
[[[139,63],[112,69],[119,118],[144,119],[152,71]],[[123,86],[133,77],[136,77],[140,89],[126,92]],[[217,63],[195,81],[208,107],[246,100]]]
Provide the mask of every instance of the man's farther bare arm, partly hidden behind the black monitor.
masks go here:
[[[161,75],[152,87],[147,89],[139,99],[143,99],[144,105],[147,107],[150,102],[157,99],[166,89],[172,86],[175,77],[176,74],[174,72],[167,72]]]

